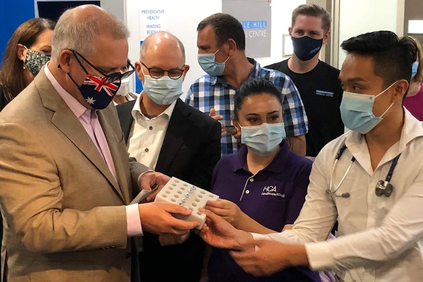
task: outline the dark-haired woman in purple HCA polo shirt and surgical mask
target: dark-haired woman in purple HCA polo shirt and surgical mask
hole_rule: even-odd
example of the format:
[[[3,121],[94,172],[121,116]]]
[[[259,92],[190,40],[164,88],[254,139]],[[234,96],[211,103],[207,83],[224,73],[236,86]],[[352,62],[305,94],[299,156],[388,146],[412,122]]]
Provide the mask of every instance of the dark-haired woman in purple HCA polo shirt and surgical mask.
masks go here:
[[[263,78],[245,81],[235,95],[233,123],[243,144],[214,168],[212,192],[218,201],[206,208],[237,229],[256,233],[291,229],[307,194],[312,161],[294,154],[285,140],[282,99]],[[320,281],[306,267],[291,267],[270,277],[245,273],[226,250],[213,248],[209,282]]]

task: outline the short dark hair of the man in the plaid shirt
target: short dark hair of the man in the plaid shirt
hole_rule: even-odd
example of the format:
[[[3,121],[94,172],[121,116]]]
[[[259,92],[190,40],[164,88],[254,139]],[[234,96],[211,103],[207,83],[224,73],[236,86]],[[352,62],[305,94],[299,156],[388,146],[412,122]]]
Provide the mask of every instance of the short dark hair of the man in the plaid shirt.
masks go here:
[[[245,50],[245,33],[241,23],[229,14],[216,13],[204,20],[197,26],[197,32],[206,26],[212,26],[216,37],[217,48],[222,46],[228,39],[233,39],[237,43],[238,50]]]

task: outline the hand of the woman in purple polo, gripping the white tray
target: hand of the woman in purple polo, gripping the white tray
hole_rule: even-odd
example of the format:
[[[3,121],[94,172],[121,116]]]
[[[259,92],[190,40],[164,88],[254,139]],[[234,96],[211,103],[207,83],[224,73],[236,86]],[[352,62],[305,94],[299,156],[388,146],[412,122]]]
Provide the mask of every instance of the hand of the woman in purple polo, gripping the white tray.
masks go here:
[[[206,209],[210,209],[213,213],[221,216],[235,228],[239,227],[239,224],[242,221],[242,215],[244,214],[238,205],[223,199],[208,201]]]

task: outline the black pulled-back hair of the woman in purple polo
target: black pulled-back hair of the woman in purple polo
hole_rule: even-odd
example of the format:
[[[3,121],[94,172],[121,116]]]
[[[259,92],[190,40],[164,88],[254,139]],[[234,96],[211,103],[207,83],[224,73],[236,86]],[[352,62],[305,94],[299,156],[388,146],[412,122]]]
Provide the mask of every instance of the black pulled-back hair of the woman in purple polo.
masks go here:
[[[250,78],[241,84],[234,96],[234,117],[238,121],[238,112],[241,109],[242,103],[245,98],[260,95],[269,94],[275,96],[278,102],[282,105],[283,98],[281,92],[275,87],[273,82],[264,78]]]

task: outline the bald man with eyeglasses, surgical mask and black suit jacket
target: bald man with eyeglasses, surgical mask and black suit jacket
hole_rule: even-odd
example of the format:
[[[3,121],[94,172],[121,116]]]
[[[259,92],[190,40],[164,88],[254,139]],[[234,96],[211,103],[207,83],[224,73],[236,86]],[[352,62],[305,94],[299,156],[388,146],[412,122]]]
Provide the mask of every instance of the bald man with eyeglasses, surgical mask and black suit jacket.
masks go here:
[[[220,124],[178,99],[189,70],[184,45],[173,34],[160,31],[144,40],[139,60],[135,69],[143,91],[136,101],[117,107],[128,152],[157,172],[210,190],[220,158]],[[178,241],[171,235],[144,232],[141,281],[198,282],[202,240],[193,235],[181,245],[160,247],[160,243]]]

